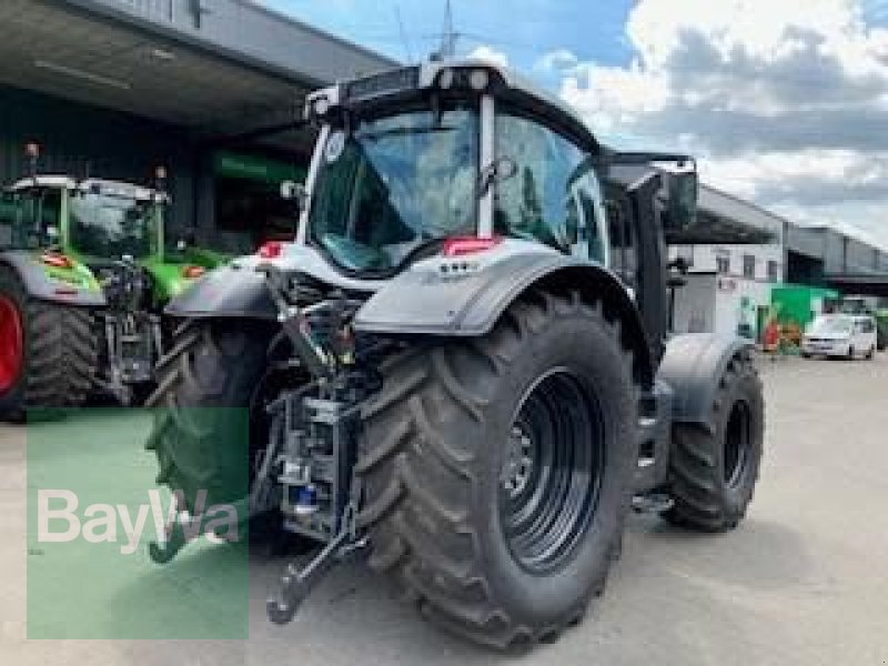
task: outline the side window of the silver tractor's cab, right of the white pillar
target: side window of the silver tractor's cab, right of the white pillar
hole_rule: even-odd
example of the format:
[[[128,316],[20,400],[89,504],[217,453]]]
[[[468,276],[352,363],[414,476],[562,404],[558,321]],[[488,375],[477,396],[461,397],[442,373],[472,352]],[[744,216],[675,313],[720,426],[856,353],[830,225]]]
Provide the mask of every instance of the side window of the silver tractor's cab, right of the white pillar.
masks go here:
[[[497,186],[496,233],[607,261],[601,189],[583,150],[536,121],[506,112],[496,119],[496,154],[517,167],[515,176]]]

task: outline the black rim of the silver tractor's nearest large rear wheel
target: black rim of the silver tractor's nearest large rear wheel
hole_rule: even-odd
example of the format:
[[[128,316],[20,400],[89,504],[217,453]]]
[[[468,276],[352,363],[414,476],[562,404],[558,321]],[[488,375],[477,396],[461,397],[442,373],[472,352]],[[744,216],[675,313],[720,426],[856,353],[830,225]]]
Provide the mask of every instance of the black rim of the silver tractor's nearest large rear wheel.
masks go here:
[[[500,522],[534,574],[562,566],[586,534],[604,470],[604,422],[587,383],[565,369],[527,391],[506,438]]]

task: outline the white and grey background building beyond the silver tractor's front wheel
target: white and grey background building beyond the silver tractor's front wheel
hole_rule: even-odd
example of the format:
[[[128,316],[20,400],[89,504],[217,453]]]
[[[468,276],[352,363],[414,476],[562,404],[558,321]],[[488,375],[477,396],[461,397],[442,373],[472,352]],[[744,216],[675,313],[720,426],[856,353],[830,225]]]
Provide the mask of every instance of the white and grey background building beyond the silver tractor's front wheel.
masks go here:
[[[748,201],[703,185],[699,216],[710,228],[735,223],[758,230],[745,244],[672,249],[689,266],[676,290],[675,329],[758,339],[773,314],[773,293],[784,285],[811,293],[888,297],[888,249],[835,228],[803,226]],[[834,291],[830,291],[834,290]],[[815,299],[813,312],[824,306]],[[797,322],[804,324],[805,321]]]

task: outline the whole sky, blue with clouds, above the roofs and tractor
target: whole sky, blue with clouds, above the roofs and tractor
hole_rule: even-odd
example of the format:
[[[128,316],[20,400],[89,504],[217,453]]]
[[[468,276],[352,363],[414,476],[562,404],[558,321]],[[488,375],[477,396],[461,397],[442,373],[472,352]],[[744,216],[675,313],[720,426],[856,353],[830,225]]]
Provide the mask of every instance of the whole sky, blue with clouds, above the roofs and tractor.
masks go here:
[[[444,0],[264,0],[407,62]],[[453,0],[461,56],[506,63],[615,148],[888,249],[888,0]]]

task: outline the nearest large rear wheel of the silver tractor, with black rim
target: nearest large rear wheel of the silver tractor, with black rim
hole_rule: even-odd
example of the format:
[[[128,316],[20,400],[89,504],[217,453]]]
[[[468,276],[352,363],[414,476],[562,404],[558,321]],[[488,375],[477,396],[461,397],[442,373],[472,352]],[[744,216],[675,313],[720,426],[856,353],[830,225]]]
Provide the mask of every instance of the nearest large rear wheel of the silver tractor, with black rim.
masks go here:
[[[603,592],[630,501],[638,393],[618,323],[537,294],[383,375],[356,467],[371,567],[474,642],[556,637]]]

